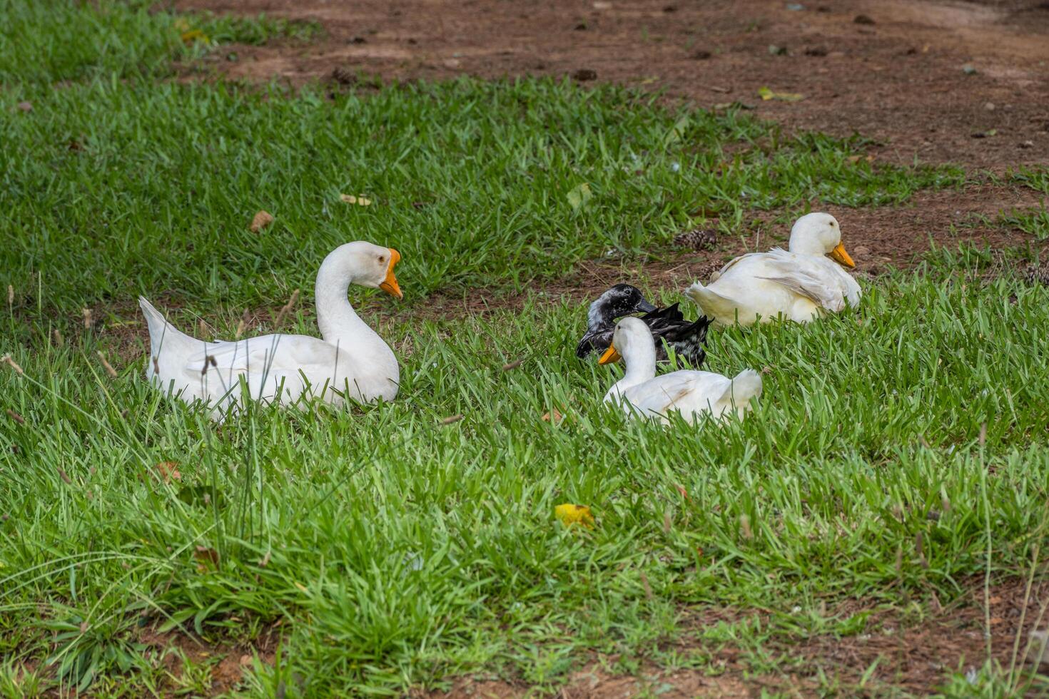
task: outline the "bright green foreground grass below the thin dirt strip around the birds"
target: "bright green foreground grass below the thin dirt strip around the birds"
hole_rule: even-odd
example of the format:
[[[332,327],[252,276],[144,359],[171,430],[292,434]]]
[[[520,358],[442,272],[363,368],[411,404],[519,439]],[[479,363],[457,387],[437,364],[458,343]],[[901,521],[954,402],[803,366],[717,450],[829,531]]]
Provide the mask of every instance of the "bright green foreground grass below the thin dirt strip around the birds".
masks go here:
[[[5,652],[133,674],[119,658],[134,658],[140,613],[234,637],[284,618],[264,694],[291,673],[308,694],[404,691],[492,664],[556,685],[582,648],[655,652],[684,604],[800,606],[801,628],[779,629],[800,637],[855,624],[820,600],[946,604],[988,544],[997,574],[1045,543],[1045,297],[935,270],[869,287],[858,313],[720,332],[712,370],[771,367],[758,409],[669,432],[602,409],[613,373],[575,359],[573,306],[386,324],[404,364],[393,403],[257,410],[221,429],[159,399],[141,361],[108,379],[105,336],[57,348],[12,321],[31,349],[15,354],[27,377],[0,377],[26,422],[0,433]],[[501,371],[523,352],[538,355]],[[553,408],[569,421],[542,421]],[[167,460],[180,482],[151,476]],[[598,526],[564,530],[560,502],[590,504]],[[198,569],[197,547],[217,569]],[[549,665],[551,652],[564,657]]]

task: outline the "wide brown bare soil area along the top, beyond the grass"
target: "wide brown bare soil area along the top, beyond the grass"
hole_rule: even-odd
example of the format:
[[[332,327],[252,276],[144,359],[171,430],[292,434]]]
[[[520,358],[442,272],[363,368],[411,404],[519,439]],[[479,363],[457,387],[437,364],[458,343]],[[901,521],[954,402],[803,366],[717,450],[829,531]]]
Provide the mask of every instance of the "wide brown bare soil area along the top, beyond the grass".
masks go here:
[[[336,70],[344,79],[397,80],[575,74],[666,88],[700,107],[740,101],[791,128],[859,131],[883,140],[887,159],[917,154],[994,169],[1049,159],[1049,6],[1042,0],[175,5],[324,25],[327,37],[309,46],[235,46],[209,58],[234,78],[301,84]],[[236,62],[227,60],[230,52]],[[763,102],[764,86],[806,99]]]

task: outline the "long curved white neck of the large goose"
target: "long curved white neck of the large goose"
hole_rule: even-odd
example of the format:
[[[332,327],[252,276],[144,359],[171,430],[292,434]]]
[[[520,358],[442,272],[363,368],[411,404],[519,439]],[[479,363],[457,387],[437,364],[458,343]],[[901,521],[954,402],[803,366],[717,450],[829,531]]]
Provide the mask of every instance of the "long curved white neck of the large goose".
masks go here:
[[[346,294],[354,276],[333,259],[337,253],[324,258],[314,287],[321,336],[324,342],[339,347],[340,351],[369,352],[372,356],[388,354],[395,363],[389,346],[349,305]]]

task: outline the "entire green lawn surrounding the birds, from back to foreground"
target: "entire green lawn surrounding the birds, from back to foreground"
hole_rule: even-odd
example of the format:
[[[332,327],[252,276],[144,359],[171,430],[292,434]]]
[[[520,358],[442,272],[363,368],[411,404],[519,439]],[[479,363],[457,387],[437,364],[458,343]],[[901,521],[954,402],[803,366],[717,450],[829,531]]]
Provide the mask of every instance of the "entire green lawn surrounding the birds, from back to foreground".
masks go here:
[[[192,635],[276,638],[223,687],[254,696],[467,676],[556,693],[595,657],[612,674],[892,695],[878,663],[825,669],[790,649],[1043,581],[1049,290],[1015,272],[1029,250],[992,265],[938,249],[864,280],[858,309],[711,332],[705,368],[765,380],[754,412],[722,427],[602,406],[620,370],[576,359],[585,306],[545,292],[582,261],[668,258],[714,216],[737,238],[772,212],[768,246],[817,205],[849,245],[850,206],[971,174],[872,165],[853,157],[862,137],[786,135],[740,108],[551,80],[186,82],[209,50],[186,31],[319,29],[148,5],[0,0],[0,354],[24,372],[0,366],[0,693],[209,695],[222,658],[187,655]],[[1013,177],[1049,190],[1044,171]],[[259,210],[275,221],[255,233]],[[1044,212],[1012,224],[1049,235]],[[362,239],[404,258],[404,301],[350,289],[401,361],[395,401],[262,407],[219,427],[145,383],[140,293],[212,338],[245,309],[262,319],[249,332],[271,331],[301,289],[283,329],[316,334],[320,261]],[[692,281],[639,283],[671,303]],[[438,291],[492,309],[427,312]],[[595,526],[562,526],[561,503],[588,505]],[[709,610],[738,617],[684,622]],[[169,633],[174,663],[144,642]],[[1011,637],[990,640],[936,671],[944,693],[1045,691]]]

